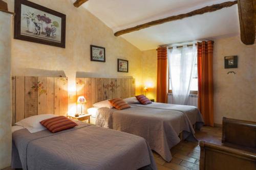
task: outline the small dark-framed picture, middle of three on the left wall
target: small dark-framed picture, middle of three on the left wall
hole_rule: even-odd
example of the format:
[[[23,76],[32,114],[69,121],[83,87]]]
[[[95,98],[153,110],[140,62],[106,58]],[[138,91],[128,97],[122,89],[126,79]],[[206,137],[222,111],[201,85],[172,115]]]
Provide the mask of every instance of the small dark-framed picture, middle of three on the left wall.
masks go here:
[[[91,45],[91,61],[106,62],[105,48]]]

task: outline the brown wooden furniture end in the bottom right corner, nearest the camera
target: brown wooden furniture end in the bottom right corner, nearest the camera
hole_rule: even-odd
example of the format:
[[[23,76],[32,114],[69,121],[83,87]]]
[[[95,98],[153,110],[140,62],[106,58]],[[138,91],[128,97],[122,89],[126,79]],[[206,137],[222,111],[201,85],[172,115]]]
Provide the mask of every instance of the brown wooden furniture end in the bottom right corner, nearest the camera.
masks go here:
[[[256,154],[200,141],[200,170],[255,170]]]

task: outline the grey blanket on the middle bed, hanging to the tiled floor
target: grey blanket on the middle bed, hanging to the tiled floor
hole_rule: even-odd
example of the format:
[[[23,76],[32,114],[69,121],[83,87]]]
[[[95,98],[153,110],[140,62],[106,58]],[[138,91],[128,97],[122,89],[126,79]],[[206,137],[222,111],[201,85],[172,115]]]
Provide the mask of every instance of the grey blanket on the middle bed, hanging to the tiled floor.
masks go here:
[[[172,159],[170,148],[180,142],[180,132],[187,132],[184,138],[197,141],[188,117],[180,111],[136,106],[124,110],[100,108],[96,125],[145,138],[151,149],[168,162]]]

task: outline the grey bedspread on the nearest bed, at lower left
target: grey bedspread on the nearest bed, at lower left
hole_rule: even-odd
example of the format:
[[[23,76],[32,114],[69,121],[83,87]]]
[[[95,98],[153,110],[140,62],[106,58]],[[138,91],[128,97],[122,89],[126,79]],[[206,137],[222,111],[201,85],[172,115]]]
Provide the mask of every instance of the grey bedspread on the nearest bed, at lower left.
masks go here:
[[[78,123],[75,128],[31,134],[13,132],[12,168],[28,169],[157,169],[145,139]]]

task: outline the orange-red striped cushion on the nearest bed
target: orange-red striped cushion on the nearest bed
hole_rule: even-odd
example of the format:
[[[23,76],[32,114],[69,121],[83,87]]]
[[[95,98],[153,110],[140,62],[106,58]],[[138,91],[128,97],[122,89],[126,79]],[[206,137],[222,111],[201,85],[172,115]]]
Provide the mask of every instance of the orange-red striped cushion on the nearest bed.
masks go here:
[[[70,129],[77,126],[75,122],[73,122],[71,119],[65,116],[48,118],[48,119],[42,120],[40,124],[46,127],[52,133]]]

